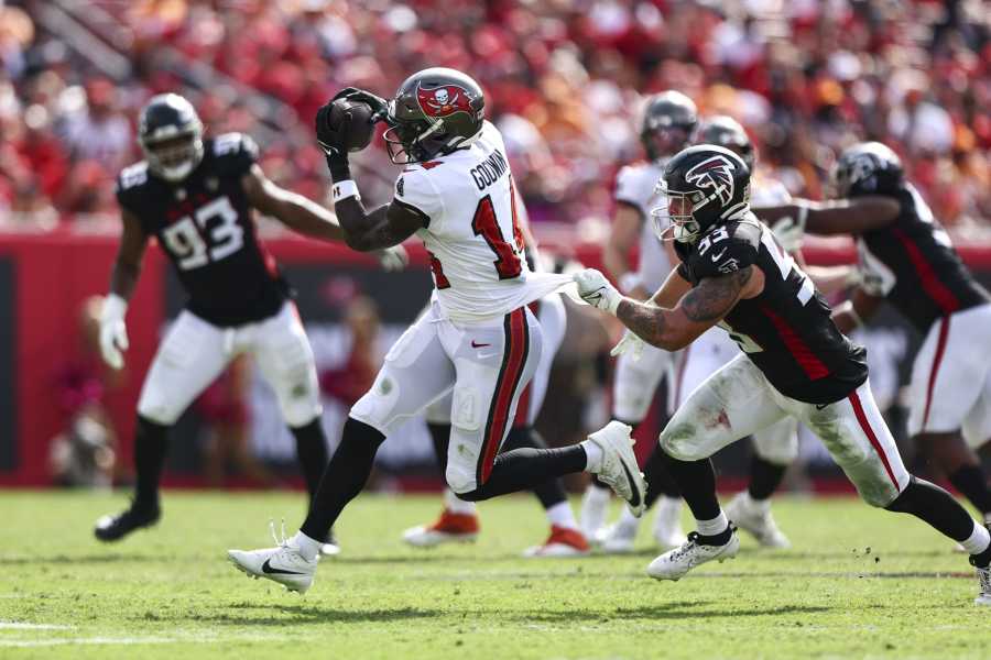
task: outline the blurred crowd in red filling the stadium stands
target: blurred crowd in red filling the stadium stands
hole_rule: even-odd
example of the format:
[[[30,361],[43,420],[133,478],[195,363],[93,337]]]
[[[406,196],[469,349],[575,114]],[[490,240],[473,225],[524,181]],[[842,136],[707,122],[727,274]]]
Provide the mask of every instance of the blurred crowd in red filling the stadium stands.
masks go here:
[[[344,86],[391,96],[426,66],[482,82],[536,222],[608,217],[616,169],[640,157],[640,102],[669,88],[737,117],[793,194],[821,197],[836,150],[874,139],[946,224],[991,219],[982,0],[0,0],[0,226],[112,215],[137,112],[164,90],[325,199],[316,109]],[[356,161],[366,197],[388,197],[381,150]]]

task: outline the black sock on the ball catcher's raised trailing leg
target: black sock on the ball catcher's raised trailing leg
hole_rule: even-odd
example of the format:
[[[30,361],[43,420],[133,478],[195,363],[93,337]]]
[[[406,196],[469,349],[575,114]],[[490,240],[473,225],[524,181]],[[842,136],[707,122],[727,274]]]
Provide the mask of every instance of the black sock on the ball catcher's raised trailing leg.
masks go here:
[[[588,455],[580,444],[559,449],[515,449],[496,457],[489,481],[470,493],[458,493],[468,502],[533,488],[548,477],[581,472]]]

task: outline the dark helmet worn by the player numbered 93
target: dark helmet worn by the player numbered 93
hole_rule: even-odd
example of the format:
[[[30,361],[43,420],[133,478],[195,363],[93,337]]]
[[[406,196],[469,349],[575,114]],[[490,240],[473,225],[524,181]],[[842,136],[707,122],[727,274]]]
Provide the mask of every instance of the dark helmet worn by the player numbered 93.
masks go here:
[[[193,103],[177,94],[160,94],[141,110],[138,143],[152,174],[179,182],[203,161],[203,122]]]

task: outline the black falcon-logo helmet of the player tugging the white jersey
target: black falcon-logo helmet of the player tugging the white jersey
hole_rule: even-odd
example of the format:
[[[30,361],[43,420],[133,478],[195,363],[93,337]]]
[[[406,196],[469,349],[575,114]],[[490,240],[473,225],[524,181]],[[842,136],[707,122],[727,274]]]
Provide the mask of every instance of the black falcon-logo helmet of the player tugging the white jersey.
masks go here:
[[[726,147],[689,146],[668,161],[657,193],[666,200],[651,212],[657,234],[672,229],[675,241],[694,243],[750,210],[750,168]]]

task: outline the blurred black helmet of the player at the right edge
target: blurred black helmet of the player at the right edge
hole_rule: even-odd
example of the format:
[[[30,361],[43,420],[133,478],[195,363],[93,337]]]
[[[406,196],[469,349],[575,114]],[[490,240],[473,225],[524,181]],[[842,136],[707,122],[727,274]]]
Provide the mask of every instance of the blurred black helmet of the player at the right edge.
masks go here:
[[[861,142],[840,154],[830,175],[836,199],[858,195],[894,195],[905,185],[897,154],[880,142]]]

